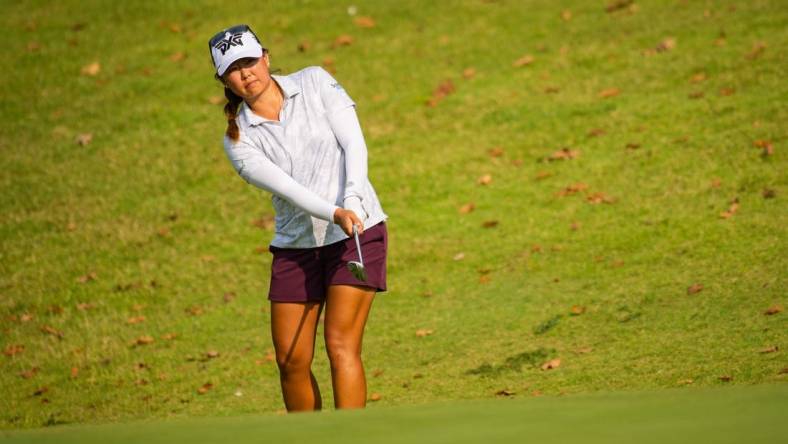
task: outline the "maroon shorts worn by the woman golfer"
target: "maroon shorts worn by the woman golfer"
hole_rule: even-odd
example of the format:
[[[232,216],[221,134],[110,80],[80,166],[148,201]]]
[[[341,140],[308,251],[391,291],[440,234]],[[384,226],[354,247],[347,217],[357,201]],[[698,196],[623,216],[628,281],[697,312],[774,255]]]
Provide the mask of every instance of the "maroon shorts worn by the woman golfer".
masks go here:
[[[326,298],[329,285],[349,284],[386,291],[386,222],[380,222],[359,235],[361,256],[367,281],[356,279],[347,268],[349,261],[358,261],[353,237],[314,248],[279,248],[268,250],[271,262],[271,287],[268,299],[277,302],[320,302]]]

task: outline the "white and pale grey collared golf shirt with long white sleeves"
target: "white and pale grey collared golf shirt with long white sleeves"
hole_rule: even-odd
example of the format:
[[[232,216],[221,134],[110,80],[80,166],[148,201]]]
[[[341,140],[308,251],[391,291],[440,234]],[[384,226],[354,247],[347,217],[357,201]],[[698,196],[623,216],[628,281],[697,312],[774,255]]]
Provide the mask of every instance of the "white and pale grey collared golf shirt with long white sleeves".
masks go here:
[[[355,102],[326,70],[311,66],[271,77],[284,92],[279,120],[242,103],[240,137],[224,136],[224,151],[248,183],[272,193],[271,245],[309,248],[347,235],[333,223],[340,206],[371,227],[388,216],[367,178],[367,147]]]

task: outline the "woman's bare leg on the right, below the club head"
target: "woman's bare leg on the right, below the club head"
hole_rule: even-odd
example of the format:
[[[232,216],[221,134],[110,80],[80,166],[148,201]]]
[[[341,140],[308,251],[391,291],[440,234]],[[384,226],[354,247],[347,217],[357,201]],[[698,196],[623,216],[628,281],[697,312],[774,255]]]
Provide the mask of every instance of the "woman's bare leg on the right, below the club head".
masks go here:
[[[328,287],[324,328],[337,409],[366,406],[367,381],[361,362],[361,342],[374,297],[375,290],[367,287]]]

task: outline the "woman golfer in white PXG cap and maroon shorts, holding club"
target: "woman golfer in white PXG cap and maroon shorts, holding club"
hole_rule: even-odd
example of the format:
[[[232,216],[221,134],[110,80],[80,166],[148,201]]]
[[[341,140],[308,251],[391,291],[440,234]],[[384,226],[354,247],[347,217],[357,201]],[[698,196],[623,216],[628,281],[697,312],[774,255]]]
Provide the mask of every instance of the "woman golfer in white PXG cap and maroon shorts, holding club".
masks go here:
[[[320,410],[311,363],[325,304],[334,406],[366,405],[361,342],[375,293],[386,290],[387,215],[367,179],[355,103],[324,69],[269,72],[268,51],[246,25],[209,41],[224,85],[224,150],[248,183],[273,194],[271,336],[288,412]],[[366,280],[359,261],[357,227]]]

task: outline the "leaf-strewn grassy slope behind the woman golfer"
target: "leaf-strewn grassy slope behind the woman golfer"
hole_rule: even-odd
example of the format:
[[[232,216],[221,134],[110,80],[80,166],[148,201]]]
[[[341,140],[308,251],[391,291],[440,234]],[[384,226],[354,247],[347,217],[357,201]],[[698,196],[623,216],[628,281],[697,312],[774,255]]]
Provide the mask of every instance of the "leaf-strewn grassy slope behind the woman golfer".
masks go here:
[[[369,410],[785,381],[785,313],[764,314],[788,302],[780,2],[356,4],[374,28],[329,1],[0,7],[20,36],[0,61],[0,427],[281,411],[256,251],[273,233],[252,224],[272,209],[210,101],[205,41],[238,22],[283,72],[331,58],[358,103],[391,242]]]

